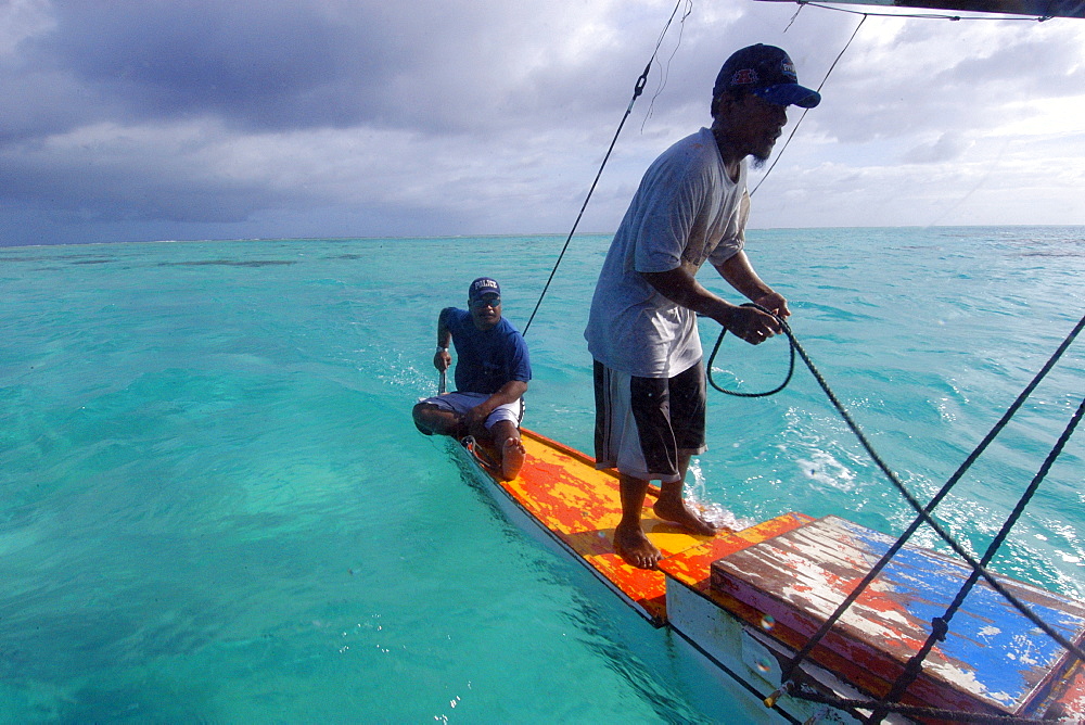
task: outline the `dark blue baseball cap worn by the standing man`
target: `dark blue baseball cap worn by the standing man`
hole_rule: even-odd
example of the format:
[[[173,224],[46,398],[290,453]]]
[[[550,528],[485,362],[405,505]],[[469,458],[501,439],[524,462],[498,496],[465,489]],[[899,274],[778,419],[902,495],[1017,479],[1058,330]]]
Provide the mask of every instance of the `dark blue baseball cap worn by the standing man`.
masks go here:
[[[777,105],[813,109],[821,94],[799,85],[795,64],[781,48],[757,43],[737,50],[724,62],[712,89],[713,100],[725,91],[752,92]]]

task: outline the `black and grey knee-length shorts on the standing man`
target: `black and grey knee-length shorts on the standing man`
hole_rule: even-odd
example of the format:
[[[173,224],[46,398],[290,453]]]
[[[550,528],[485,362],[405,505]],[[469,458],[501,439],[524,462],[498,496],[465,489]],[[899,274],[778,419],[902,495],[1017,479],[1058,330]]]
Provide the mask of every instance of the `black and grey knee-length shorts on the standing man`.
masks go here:
[[[679,480],[681,455],[704,453],[704,366],[638,378],[595,361],[596,467],[642,481]]]

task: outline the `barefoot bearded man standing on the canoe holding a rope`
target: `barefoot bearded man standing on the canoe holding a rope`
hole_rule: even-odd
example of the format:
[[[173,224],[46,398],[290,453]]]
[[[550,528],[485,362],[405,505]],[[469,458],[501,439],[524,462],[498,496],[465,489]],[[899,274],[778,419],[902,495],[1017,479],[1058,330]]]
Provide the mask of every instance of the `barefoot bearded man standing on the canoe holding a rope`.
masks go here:
[[[595,358],[596,460],[616,468],[622,521],[614,549],[652,569],[661,554],[641,525],[649,481],[661,482],[653,510],[695,534],[716,527],[682,498],[690,457],[705,450],[705,380],[697,315],[758,344],[790,315],[743,251],[750,213],[746,156],[768,160],[787,107],[821,97],[797,82],[788,54],[773,46],[739,50],[712,92],[712,128],[678,141],[644,174],[614,236],[584,336]],[[770,310],[740,307],[701,287],[705,260],[739,293]]]

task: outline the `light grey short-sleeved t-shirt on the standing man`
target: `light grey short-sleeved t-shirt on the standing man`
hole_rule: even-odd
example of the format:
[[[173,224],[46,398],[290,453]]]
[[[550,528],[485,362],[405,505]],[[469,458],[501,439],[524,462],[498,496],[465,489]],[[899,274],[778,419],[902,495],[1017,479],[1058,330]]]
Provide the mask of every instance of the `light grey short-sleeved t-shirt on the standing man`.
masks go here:
[[[712,131],[678,141],[644,174],[611,242],[584,332],[591,356],[641,378],[673,378],[701,359],[697,315],[655,291],[639,272],[706,259],[719,267],[745,244],[746,164],[727,176]]]

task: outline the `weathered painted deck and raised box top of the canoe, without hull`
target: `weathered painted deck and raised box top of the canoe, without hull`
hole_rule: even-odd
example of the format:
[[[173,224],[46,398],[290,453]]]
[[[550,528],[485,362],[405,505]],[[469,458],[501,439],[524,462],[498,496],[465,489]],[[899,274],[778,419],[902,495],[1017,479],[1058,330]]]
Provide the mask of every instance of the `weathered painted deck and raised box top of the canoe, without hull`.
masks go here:
[[[500,481],[485,457],[469,454],[469,459],[488,473],[508,506],[658,626],[667,623],[669,581],[795,651],[893,540],[835,517],[794,512],[742,531],[694,536],[656,518],[650,493],[644,530],[664,559],[658,570],[637,569],[613,549],[621,520],[617,476],[597,470],[583,453],[526,429],[523,434],[527,459],[513,481]],[[943,613],[967,576],[954,560],[905,547],[814,648],[812,659],[859,690],[883,696],[927,638],[931,619]],[[1000,578],[1068,639],[1085,640],[1081,603]],[[1076,714],[1085,710],[1085,665],[1072,664],[1056,643],[981,582],[902,700],[995,715]]]

